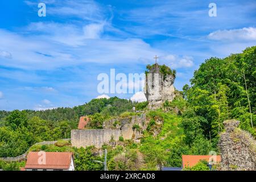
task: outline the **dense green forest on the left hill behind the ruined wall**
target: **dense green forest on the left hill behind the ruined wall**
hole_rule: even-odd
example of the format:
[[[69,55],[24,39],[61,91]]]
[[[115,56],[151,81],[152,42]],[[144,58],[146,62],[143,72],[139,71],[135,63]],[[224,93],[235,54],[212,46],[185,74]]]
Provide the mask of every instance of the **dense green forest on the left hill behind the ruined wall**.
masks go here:
[[[94,99],[73,108],[0,111],[0,158],[21,155],[37,142],[70,138],[70,131],[77,128],[82,115],[102,113],[106,118],[121,114],[135,104],[112,97]]]

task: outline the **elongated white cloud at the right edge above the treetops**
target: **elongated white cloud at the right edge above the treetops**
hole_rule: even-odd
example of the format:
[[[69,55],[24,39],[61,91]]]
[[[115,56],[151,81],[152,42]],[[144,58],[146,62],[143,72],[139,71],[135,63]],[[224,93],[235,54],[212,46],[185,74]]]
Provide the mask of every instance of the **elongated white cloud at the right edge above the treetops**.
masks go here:
[[[256,28],[240,28],[233,30],[218,30],[212,32],[208,35],[209,39],[212,40],[230,40],[230,41],[239,41],[239,40],[256,40]]]

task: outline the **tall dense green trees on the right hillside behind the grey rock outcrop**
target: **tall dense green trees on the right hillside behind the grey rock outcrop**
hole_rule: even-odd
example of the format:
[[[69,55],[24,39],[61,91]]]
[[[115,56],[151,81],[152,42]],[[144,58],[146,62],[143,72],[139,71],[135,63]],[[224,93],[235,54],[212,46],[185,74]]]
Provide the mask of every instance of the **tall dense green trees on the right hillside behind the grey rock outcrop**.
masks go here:
[[[183,113],[182,126],[192,151],[197,148],[197,152],[203,154],[211,147],[217,151],[217,140],[226,119],[240,120],[240,127],[256,136],[255,127],[252,127],[256,124],[253,110],[255,60],[256,47],[225,59],[212,57],[195,71],[192,86],[184,85],[183,98],[188,102],[188,109]],[[195,145],[196,140],[201,144]],[[207,147],[207,143],[211,146]]]

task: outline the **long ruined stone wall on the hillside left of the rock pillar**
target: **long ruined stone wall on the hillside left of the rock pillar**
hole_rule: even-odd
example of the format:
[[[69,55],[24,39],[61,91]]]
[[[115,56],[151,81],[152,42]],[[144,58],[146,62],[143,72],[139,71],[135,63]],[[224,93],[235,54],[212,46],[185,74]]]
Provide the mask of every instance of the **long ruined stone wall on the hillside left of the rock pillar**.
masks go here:
[[[117,124],[114,124],[117,123]],[[133,129],[137,124],[140,131]],[[142,135],[142,130],[146,129],[146,114],[133,115],[128,118],[115,118],[104,122],[104,129],[71,130],[71,143],[74,147],[96,146],[101,148],[103,144],[108,144],[110,140],[135,139]]]

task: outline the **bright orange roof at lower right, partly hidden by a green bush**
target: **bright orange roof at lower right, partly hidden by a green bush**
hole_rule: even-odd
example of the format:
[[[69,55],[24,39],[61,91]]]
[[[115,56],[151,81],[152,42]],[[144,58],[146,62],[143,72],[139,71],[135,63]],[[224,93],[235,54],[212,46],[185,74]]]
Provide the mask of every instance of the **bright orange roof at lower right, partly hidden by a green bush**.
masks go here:
[[[183,167],[193,167],[197,163],[200,162],[200,160],[209,160],[209,158],[212,157],[212,155],[182,155],[182,164]],[[221,156],[216,156],[216,162],[221,161]]]

